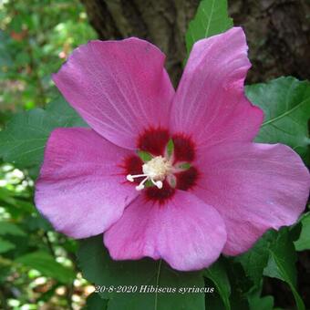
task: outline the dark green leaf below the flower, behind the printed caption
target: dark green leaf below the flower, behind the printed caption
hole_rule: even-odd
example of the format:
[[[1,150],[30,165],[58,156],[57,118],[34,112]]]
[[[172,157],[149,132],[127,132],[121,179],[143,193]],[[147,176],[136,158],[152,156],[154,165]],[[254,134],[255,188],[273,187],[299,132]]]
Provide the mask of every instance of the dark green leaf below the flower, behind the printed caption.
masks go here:
[[[78,263],[84,277],[93,282],[105,299],[108,309],[204,309],[203,293],[187,293],[191,288],[203,289],[202,273],[181,273],[162,261],[113,261],[104,248],[102,235],[81,243]],[[156,290],[175,290],[160,293]],[[117,291],[129,290],[127,293]],[[132,290],[136,290],[132,293]],[[131,293],[130,293],[131,292]],[[179,293],[181,292],[181,293]]]

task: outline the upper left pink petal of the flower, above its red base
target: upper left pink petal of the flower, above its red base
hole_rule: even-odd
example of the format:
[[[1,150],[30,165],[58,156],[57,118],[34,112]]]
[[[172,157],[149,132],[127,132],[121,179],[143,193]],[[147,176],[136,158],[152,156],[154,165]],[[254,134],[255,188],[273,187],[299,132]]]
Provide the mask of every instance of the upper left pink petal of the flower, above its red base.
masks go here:
[[[168,127],[174,89],[165,56],[147,41],[90,41],[53,79],[67,101],[100,135],[129,149],[140,132]]]

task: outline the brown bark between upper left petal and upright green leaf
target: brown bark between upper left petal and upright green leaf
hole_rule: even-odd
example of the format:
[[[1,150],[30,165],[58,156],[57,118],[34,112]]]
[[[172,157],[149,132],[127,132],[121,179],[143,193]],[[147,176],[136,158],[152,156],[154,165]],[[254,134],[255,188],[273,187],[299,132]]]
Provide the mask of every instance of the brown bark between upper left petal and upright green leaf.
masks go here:
[[[160,47],[173,82],[186,57],[184,34],[199,0],[82,0],[101,39],[138,36]]]

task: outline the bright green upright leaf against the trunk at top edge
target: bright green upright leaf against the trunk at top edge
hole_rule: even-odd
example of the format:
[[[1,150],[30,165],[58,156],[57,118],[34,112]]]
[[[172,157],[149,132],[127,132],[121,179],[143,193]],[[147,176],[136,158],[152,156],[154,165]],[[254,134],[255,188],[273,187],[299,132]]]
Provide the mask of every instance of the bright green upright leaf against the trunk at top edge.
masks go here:
[[[193,44],[205,37],[221,34],[233,26],[227,0],[203,0],[185,35],[188,55]]]

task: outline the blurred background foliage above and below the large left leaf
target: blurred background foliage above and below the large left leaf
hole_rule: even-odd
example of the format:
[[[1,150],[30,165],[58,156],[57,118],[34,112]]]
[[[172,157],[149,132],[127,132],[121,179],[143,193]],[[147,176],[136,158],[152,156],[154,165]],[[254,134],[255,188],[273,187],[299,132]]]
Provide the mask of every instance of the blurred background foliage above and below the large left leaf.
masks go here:
[[[0,129],[55,98],[51,73],[96,36],[77,0],[0,1]],[[33,191],[26,171],[0,161],[0,308],[80,309],[93,286],[78,273],[77,243],[39,216]]]

